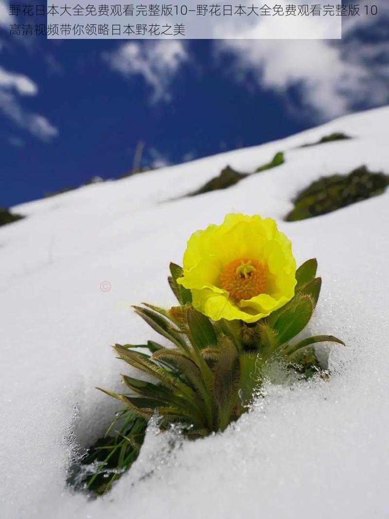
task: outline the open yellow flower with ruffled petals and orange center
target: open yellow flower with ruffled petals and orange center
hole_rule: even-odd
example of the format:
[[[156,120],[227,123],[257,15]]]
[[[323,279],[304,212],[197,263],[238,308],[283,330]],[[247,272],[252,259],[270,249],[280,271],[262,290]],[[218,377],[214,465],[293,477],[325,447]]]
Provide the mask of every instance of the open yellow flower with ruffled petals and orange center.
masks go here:
[[[290,240],[272,218],[227,214],[223,224],[193,233],[179,284],[193,306],[214,321],[251,323],[281,308],[295,293]]]

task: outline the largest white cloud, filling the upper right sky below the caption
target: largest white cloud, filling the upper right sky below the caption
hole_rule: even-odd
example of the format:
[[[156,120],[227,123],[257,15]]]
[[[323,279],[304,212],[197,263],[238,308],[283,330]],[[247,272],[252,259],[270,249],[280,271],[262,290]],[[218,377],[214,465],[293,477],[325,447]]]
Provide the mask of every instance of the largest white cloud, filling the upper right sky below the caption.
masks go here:
[[[353,21],[343,29],[344,40],[223,40],[215,44],[217,56],[233,58],[239,81],[254,77],[261,89],[283,95],[291,110],[318,120],[352,111],[358,104],[374,106],[389,101],[389,48],[358,39],[362,25]],[[382,21],[382,17],[381,17]],[[372,27],[369,26],[369,30]],[[379,59],[378,59],[379,58]],[[290,96],[299,92],[299,102]],[[298,106],[298,108],[297,108]]]

